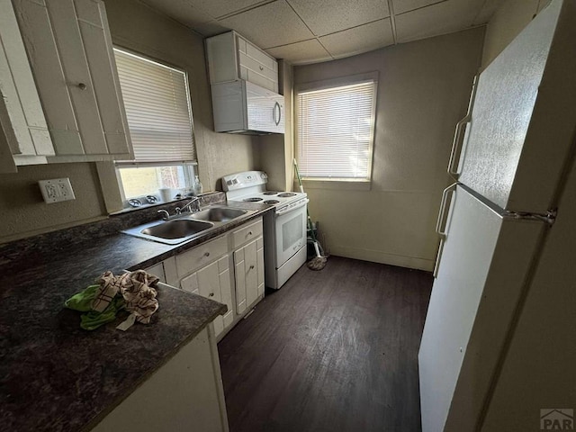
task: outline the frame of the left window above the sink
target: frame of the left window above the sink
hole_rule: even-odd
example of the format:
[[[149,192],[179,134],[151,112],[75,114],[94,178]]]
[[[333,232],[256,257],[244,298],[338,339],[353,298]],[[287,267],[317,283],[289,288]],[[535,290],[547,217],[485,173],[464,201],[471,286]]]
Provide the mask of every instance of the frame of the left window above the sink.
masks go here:
[[[136,58],[143,58],[145,60],[148,60],[152,63],[155,63],[159,66],[162,67],[169,67],[172,69],[175,69],[178,72],[182,72],[184,74],[184,85],[185,85],[185,92],[187,94],[187,108],[188,108],[188,116],[190,119],[190,129],[191,129],[191,136],[193,139],[193,146],[194,146],[194,154],[196,157],[196,160],[162,160],[162,159],[158,159],[157,161],[138,161],[136,159],[130,159],[130,160],[114,160],[113,161],[113,166],[114,166],[114,173],[116,175],[116,181],[118,184],[118,189],[119,189],[119,193],[120,193],[120,197],[121,197],[121,202],[122,202],[122,211],[131,211],[131,210],[138,210],[140,207],[131,207],[130,203],[128,202],[128,199],[131,198],[143,198],[144,196],[140,196],[140,197],[130,197],[127,198],[126,197],[126,193],[124,191],[124,187],[122,184],[122,180],[121,180],[121,174],[120,174],[120,170],[121,168],[128,168],[128,167],[160,167],[160,166],[182,166],[184,169],[184,183],[185,183],[185,188],[192,188],[193,187],[193,182],[194,182],[194,176],[198,175],[198,148],[196,147],[196,136],[195,136],[195,131],[194,131],[194,120],[193,120],[193,112],[192,112],[192,95],[190,93],[190,82],[189,82],[189,76],[188,76],[188,71],[184,68],[184,67],[180,67],[177,66],[175,64],[172,64],[168,61],[165,61],[163,59],[159,59],[159,58],[154,58],[152,56],[149,56],[148,54],[136,51],[134,49],[129,49],[126,47],[123,47],[121,45],[113,45],[113,49],[118,49],[120,51],[123,51],[124,53],[127,53],[131,56],[134,56]],[[121,90],[121,88],[120,88]],[[128,124],[128,121],[127,121]],[[129,125],[129,132],[130,132],[130,125]],[[135,156],[134,156],[135,157]],[[157,191],[151,191],[150,194],[154,194],[157,195]],[[142,205],[142,208],[147,207],[147,205]]]

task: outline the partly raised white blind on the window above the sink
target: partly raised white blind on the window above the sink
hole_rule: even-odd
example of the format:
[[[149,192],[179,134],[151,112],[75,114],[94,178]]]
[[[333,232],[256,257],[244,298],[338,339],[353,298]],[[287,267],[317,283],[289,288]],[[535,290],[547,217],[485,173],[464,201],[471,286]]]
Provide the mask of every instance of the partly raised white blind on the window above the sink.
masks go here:
[[[195,161],[186,74],[114,49],[137,162]]]

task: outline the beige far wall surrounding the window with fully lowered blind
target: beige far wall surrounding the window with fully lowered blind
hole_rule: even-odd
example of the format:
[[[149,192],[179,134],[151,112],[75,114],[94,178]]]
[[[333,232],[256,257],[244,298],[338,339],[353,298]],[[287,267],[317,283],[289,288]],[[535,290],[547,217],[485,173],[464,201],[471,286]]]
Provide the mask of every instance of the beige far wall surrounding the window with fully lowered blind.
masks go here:
[[[295,85],[379,72],[371,190],[305,184],[329,252],[432,270],[455,123],[466,112],[483,36],[478,28],[294,67]]]

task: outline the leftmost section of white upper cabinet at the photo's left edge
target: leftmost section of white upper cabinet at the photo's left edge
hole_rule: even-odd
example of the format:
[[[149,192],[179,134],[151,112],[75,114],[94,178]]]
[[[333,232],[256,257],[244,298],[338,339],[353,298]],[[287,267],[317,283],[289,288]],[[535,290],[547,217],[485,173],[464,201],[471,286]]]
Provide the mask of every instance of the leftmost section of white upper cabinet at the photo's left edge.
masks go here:
[[[14,9],[0,2],[0,172],[54,156]]]

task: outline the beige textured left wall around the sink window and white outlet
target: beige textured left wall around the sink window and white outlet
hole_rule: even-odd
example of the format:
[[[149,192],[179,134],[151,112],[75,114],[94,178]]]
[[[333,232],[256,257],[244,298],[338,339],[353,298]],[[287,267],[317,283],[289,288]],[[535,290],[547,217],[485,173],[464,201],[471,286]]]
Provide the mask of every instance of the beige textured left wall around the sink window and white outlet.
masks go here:
[[[106,0],[115,44],[177,67],[189,76],[199,171],[204,190],[220,189],[220,177],[259,165],[252,137],[213,132],[202,38],[135,0]],[[104,173],[102,170],[101,173]],[[45,204],[36,182],[70,177],[76,201]],[[114,181],[107,180],[108,184]],[[0,175],[0,243],[78,225],[106,216],[95,164],[23,166]]]

